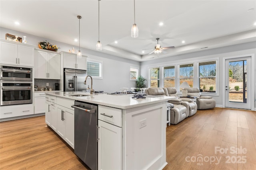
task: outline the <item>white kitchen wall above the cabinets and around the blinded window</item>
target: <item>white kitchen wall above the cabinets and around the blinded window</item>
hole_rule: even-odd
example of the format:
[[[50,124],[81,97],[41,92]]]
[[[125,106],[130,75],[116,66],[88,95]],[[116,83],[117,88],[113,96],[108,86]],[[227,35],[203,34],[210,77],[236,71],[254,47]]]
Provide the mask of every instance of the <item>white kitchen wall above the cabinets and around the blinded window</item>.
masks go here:
[[[14,31],[0,27],[0,38],[5,39],[6,33],[11,35],[17,35],[19,37],[26,36],[28,44],[35,45],[38,47],[38,42],[45,41],[44,37],[37,37],[34,35]],[[73,45],[61,43],[51,39],[47,39],[53,45],[60,47],[58,52],[72,50]],[[78,47],[74,47],[75,51]],[[94,79],[93,88],[94,90],[103,90],[104,92],[116,92],[120,91],[122,87],[135,87],[135,81],[130,81],[130,66],[140,68],[140,62],[132,61],[113,55],[100,53],[98,51],[92,51],[85,48],[80,48],[82,55],[88,56],[88,59],[103,61],[103,79]],[[90,85],[90,78],[88,78],[88,84]]]

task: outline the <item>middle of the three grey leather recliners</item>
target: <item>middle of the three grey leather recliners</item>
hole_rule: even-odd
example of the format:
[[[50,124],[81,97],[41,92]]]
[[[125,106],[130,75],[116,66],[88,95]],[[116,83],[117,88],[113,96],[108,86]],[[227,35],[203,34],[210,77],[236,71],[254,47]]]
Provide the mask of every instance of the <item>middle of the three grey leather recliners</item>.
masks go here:
[[[173,96],[176,99],[169,100],[168,102],[172,104],[182,104],[187,108],[187,117],[196,114],[197,105],[196,102],[192,102],[190,98],[179,98],[177,94],[177,90],[173,87],[163,88],[166,96]],[[188,102],[188,103],[187,103]]]

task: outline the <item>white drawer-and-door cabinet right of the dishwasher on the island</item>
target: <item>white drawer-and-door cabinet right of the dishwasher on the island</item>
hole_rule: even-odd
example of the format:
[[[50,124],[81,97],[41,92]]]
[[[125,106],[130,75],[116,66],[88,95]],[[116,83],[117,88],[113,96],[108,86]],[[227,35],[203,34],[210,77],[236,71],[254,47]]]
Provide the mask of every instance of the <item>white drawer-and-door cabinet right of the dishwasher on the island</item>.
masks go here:
[[[121,170],[122,110],[99,105],[98,119],[98,169]]]

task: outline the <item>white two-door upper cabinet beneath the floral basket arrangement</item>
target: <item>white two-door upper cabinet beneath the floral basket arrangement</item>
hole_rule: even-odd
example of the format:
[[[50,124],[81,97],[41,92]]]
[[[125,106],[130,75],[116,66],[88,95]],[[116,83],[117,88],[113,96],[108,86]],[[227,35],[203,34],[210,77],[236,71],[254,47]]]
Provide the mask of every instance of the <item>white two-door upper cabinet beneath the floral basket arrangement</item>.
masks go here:
[[[35,50],[35,78],[60,79],[60,54]]]

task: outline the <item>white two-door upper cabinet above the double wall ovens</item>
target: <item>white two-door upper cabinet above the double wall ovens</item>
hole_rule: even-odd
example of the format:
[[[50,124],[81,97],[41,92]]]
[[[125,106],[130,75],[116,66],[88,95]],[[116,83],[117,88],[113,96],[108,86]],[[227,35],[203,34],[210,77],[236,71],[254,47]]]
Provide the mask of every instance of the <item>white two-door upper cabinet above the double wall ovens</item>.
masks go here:
[[[0,41],[0,64],[34,66],[34,47],[8,40]]]

